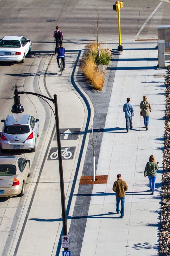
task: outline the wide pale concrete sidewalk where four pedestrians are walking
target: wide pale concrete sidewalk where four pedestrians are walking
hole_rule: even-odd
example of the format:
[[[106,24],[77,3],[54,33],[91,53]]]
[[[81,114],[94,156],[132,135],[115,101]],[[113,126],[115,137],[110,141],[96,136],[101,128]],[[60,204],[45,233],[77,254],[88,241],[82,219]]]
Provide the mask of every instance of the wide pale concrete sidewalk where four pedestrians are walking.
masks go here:
[[[158,253],[165,114],[161,74],[166,70],[157,70],[156,45],[123,44],[125,52],[120,54],[116,68],[96,171],[96,175],[108,175],[108,180],[107,184],[93,185],[81,256]],[[143,95],[152,105],[148,131],[139,114]],[[133,130],[129,133],[122,110],[127,97],[134,106]],[[160,162],[155,195],[149,191],[148,177],[143,175],[150,155]],[[112,191],[118,173],[128,184],[124,219],[116,214]]]

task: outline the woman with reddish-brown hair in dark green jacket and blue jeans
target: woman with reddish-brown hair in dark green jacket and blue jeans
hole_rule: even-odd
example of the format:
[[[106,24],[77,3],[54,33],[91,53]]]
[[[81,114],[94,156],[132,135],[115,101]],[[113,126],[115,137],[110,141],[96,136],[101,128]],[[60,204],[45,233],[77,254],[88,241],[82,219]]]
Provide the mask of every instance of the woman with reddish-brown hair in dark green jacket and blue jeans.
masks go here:
[[[152,191],[152,195],[155,193],[155,182],[156,182],[156,170],[159,168],[159,162],[156,163],[153,155],[150,155],[149,162],[147,162],[146,167],[144,169],[144,177],[148,176],[150,181],[150,191]]]

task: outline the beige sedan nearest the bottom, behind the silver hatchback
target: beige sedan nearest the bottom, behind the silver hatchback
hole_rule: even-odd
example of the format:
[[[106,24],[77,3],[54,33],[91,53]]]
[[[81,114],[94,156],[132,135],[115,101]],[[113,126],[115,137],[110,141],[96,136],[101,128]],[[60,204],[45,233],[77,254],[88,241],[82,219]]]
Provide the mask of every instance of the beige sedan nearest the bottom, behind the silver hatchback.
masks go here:
[[[0,197],[23,196],[30,174],[30,160],[20,156],[0,156]]]

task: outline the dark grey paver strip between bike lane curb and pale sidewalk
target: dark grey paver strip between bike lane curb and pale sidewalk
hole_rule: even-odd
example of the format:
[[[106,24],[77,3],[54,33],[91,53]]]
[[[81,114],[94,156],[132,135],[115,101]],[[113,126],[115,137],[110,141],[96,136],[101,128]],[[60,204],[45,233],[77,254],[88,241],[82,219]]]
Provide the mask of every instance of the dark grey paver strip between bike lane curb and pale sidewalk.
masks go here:
[[[98,163],[98,156],[100,152],[100,146],[103,136],[103,129],[105,126],[105,120],[107,110],[109,106],[112,85],[115,76],[115,70],[117,61],[119,58],[118,54],[114,54],[112,59],[116,61],[110,61],[107,68],[107,74],[105,76],[104,86],[101,92],[96,92],[90,85],[85,82],[85,77],[79,67],[77,73],[77,80],[79,81],[80,87],[87,93],[94,106],[94,119],[93,119],[93,131],[97,134],[98,129],[100,132],[97,135],[95,144],[95,156],[96,156],[96,167]],[[90,128],[89,128],[90,129]],[[94,138],[96,137],[94,134]],[[88,142],[88,148],[86,152],[86,158],[83,166],[83,176],[92,175],[92,145],[91,141]],[[105,175],[105,173],[103,173]],[[74,212],[72,221],[70,224],[69,235],[71,240],[70,251],[72,255],[79,256],[81,253],[81,247],[83,242],[84,231],[86,228],[86,222],[88,218],[88,209],[91,200],[90,194],[92,193],[93,185],[80,185],[78,189],[78,195],[75,202]],[[82,196],[83,194],[83,196]],[[87,196],[85,196],[87,194]]]

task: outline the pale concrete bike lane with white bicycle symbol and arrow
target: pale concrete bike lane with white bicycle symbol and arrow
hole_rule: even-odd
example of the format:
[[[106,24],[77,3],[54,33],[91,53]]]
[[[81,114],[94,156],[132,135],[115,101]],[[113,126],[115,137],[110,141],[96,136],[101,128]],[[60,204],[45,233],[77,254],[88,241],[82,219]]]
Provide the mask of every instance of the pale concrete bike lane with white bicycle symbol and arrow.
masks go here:
[[[66,52],[66,70],[62,76],[57,68],[56,57],[53,56],[51,61],[51,56],[46,58],[46,67],[48,67],[46,68],[46,87],[51,97],[53,94],[58,96],[65,198],[67,211],[70,210],[70,214],[73,212],[74,202],[68,207],[69,195],[70,191],[73,190],[72,184],[79,160],[79,152],[82,150],[81,145],[87,119],[86,107],[70,82],[78,53],[79,51],[76,49]],[[40,80],[43,81],[43,76],[40,77]],[[41,81],[39,84],[43,94],[44,83]],[[19,226],[10,255],[56,254],[62,229],[62,219],[54,116],[51,120],[51,128],[53,128],[51,137],[42,150],[43,165],[37,165],[37,172],[33,179],[33,184],[38,181],[36,190],[34,185],[30,189],[30,193],[35,195],[31,206],[29,206],[27,221],[22,236],[20,235],[22,226]],[[79,176],[81,176],[84,157],[85,153],[82,156],[82,163],[79,163]],[[41,171],[39,177],[38,170]],[[20,241],[17,244],[18,239]]]

